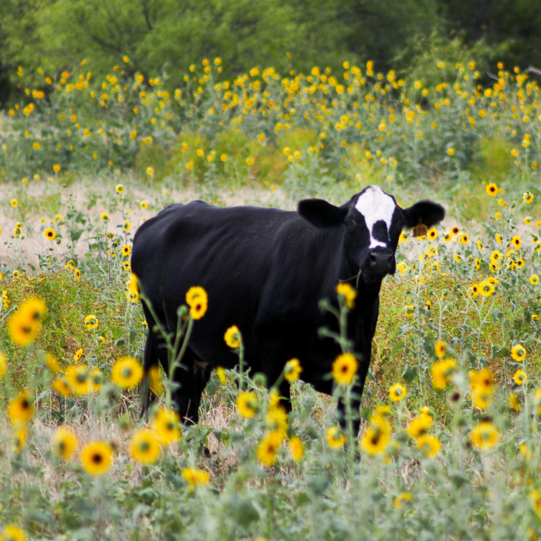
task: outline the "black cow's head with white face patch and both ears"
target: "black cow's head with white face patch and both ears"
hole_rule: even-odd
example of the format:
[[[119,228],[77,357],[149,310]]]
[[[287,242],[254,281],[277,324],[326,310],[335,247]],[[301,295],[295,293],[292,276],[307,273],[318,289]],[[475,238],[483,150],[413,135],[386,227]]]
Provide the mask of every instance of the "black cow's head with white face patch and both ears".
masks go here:
[[[345,227],[346,258],[371,283],[394,274],[394,252],[403,228],[420,222],[432,227],[444,219],[445,210],[432,201],[403,209],[379,186],[368,186],[341,207],[321,199],[300,201],[299,214],[316,227]]]

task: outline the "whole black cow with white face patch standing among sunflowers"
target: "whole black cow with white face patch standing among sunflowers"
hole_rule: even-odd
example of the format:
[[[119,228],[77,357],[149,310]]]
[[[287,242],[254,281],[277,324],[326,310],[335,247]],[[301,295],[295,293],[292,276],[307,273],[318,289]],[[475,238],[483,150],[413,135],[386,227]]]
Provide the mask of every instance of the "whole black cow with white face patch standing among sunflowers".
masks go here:
[[[358,289],[348,314],[348,337],[361,355],[358,387],[362,394],[378,321],[379,290],[395,272],[394,252],[403,228],[443,219],[439,204],[420,201],[401,209],[394,197],[369,186],[341,207],[319,200],[299,202],[298,212],[275,208],[213,207],[202,201],[171,204],[146,221],[134,238],[131,268],[157,318],[175,332],[177,308],[191,286],[208,293],[208,311],[195,321],[188,349],[177,368],[180,387],[174,394],[185,423],[197,423],[201,392],[212,367],[234,367],[237,355],[223,340],[226,329],[239,327],[246,366],[262,372],[269,384],[285,363],[296,357],[302,379],[330,394],[333,360],[339,346],[319,338],[322,326],[338,331],[334,316],[322,314],[318,302],[338,305],[339,281]],[[360,274],[359,274],[360,272]],[[158,361],[167,372],[167,349],[148,322],[144,352],[146,371]],[[282,397],[289,397],[285,382]],[[343,405],[339,405],[343,409]],[[359,407],[358,398],[354,408]],[[358,431],[358,423],[355,426]]]

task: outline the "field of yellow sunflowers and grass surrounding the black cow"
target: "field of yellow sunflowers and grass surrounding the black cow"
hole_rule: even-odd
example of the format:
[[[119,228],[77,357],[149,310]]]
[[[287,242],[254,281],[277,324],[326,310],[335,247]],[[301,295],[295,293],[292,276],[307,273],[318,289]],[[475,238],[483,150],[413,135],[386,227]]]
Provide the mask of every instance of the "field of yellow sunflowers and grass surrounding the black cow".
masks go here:
[[[473,61],[439,62],[439,81],[221,66],[169,88],[128,57],[104,81],[82,63],[0,114],[1,538],[541,537],[539,85],[499,64],[483,86]],[[370,183],[447,216],[400,236],[360,411],[339,425],[346,336],[333,397],[287,362],[286,413],[233,326],[239,367],[182,425],[170,374],[141,365],[137,227],[172,202],[294,209]],[[220,302],[193,286],[170,354]],[[341,313],[361,302],[337,292]]]

